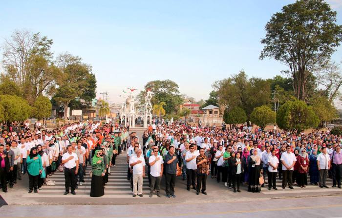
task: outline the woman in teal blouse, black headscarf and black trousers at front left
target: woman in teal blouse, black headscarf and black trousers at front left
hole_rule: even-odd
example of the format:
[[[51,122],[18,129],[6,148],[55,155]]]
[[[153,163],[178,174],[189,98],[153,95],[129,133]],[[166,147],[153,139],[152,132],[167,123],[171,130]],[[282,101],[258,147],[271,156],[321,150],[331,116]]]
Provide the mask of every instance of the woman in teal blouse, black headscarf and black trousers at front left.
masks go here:
[[[27,156],[26,163],[29,179],[28,193],[32,193],[33,188],[34,193],[38,193],[38,180],[42,174],[43,164],[42,158],[40,155],[38,155],[36,147],[31,148],[30,154]]]

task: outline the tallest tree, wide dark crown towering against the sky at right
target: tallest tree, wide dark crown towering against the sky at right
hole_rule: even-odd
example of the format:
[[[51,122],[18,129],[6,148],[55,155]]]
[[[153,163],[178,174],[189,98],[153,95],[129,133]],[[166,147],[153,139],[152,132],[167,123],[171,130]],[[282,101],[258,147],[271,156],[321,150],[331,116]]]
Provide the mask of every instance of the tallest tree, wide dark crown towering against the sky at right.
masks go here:
[[[298,0],[274,14],[265,26],[265,47],[260,59],[274,58],[286,64],[299,100],[307,102],[308,82],[315,67],[330,59],[342,40],[336,12],[324,0]]]

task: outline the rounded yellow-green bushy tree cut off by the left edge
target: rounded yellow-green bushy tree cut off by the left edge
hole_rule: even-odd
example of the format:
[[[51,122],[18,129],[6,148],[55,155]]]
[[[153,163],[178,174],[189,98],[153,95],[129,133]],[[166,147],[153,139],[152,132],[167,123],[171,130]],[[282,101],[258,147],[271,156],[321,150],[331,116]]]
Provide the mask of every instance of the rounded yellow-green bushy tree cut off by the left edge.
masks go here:
[[[24,121],[32,111],[27,101],[11,95],[0,96],[0,120],[5,122]]]

